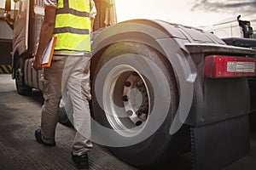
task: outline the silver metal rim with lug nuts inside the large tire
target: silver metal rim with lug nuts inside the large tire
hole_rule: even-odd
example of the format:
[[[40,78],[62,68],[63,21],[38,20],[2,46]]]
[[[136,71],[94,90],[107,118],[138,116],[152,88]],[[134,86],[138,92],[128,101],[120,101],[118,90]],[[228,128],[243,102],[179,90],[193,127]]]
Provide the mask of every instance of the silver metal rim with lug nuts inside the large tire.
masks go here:
[[[118,65],[103,88],[103,108],[110,126],[124,137],[143,131],[149,118],[150,96],[143,76],[131,65]]]

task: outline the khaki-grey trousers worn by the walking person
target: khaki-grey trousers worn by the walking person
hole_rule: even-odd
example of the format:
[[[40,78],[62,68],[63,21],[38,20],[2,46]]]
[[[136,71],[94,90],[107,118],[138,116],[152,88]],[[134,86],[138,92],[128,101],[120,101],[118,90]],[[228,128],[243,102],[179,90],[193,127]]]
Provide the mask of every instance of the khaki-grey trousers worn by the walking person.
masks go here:
[[[76,130],[73,154],[83,155],[93,147],[90,142],[90,54],[87,56],[54,56],[44,68],[41,129],[45,143],[55,142],[55,127],[62,94],[67,115],[73,115]],[[67,102],[67,104],[66,104]]]

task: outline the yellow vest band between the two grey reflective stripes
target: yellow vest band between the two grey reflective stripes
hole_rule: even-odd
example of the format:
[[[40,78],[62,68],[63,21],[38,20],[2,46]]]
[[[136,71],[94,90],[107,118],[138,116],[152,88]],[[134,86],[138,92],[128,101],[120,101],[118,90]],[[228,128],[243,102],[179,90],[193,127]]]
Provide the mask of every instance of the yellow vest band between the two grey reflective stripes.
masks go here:
[[[58,27],[90,29],[90,19],[87,17],[75,16],[73,14],[57,14],[55,20],[55,28]]]

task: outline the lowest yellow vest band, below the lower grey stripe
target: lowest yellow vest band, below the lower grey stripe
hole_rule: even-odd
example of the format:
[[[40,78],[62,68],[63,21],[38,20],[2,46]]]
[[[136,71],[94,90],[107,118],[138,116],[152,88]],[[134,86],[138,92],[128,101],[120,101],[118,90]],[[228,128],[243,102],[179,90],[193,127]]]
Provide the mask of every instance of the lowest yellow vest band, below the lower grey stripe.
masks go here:
[[[90,35],[61,33],[54,36],[57,37],[55,50],[90,51]]]

